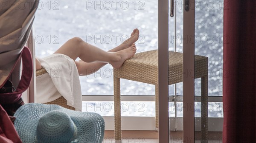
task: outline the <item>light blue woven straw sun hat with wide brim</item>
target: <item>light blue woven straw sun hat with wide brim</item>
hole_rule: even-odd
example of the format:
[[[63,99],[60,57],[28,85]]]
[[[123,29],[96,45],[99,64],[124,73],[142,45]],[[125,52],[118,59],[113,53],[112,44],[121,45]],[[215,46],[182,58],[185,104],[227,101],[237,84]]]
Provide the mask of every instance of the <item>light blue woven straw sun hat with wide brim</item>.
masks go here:
[[[14,115],[23,143],[102,143],[103,118],[58,105],[29,103]]]

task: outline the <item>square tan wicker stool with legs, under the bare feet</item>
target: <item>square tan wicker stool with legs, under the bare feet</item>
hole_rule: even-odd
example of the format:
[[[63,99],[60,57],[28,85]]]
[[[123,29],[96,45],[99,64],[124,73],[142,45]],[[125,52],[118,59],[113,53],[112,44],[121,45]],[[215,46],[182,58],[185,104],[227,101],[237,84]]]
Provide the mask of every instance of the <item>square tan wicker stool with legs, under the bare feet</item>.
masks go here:
[[[184,71],[186,72],[186,71]],[[189,73],[186,72],[186,73]],[[114,69],[115,140],[121,142],[120,79],[155,85],[156,130],[158,129],[158,53],[136,53]],[[208,139],[208,58],[195,55],[195,78],[201,78],[201,140]],[[183,81],[183,53],[169,51],[169,85]]]

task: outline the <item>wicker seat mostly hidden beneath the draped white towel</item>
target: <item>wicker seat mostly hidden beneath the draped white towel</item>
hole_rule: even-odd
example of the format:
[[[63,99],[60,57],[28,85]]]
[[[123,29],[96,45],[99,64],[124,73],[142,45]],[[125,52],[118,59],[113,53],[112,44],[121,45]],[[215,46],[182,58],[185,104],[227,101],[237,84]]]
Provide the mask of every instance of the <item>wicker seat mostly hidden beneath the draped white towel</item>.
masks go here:
[[[47,73],[47,71],[44,68],[41,68],[40,70],[36,70],[36,76],[40,76],[40,75],[46,74],[46,73]],[[60,105],[64,108],[75,110],[74,107],[71,107],[71,106],[67,105],[67,100],[63,96],[61,96],[60,98],[58,98],[54,101],[47,102],[47,103],[44,103],[44,104],[57,104],[57,105]]]

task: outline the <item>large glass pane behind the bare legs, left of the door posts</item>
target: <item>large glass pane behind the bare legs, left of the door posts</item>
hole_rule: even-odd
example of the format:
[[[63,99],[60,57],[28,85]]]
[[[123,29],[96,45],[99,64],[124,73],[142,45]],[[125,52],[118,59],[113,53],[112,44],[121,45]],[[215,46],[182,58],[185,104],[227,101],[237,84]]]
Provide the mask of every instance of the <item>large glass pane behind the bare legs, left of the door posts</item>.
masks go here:
[[[130,37],[134,28],[140,30],[137,52],[157,49],[157,0],[43,0],[40,5],[34,23],[38,57],[54,53],[75,36],[110,50]],[[113,95],[112,74],[107,64],[92,75],[81,76],[82,94]],[[154,87],[134,81],[122,81],[122,88],[124,95],[154,95]]]

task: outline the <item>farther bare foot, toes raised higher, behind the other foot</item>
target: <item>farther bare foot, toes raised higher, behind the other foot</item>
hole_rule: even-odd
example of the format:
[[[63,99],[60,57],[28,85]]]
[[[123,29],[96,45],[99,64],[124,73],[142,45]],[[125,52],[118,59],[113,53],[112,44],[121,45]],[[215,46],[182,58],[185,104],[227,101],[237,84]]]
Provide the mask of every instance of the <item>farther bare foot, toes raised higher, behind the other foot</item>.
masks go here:
[[[130,47],[132,44],[134,44],[138,39],[139,39],[139,34],[140,31],[139,29],[134,29],[131,33],[131,37],[127,40],[125,40],[124,42],[122,42],[122,44],[120,44],[119,46],[117,46],[116,48],[110,50],[110,52],[117,52],[119,50],[123,50],[125,48]]]

